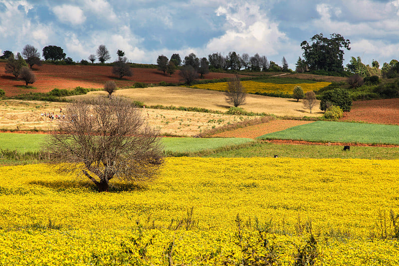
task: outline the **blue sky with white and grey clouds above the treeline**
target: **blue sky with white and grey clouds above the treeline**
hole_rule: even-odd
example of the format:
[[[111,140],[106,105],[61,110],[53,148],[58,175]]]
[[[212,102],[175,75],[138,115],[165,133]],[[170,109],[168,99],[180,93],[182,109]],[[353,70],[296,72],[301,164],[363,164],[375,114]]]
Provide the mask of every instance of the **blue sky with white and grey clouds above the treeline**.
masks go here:
[[[317,33],[350,39],[345,64],[399,59],[399,0],[0,0],[0,52],[57,45],[75,61],[105,44],[111,61],[118,49],[138,63],[234,50],[294,69]]]

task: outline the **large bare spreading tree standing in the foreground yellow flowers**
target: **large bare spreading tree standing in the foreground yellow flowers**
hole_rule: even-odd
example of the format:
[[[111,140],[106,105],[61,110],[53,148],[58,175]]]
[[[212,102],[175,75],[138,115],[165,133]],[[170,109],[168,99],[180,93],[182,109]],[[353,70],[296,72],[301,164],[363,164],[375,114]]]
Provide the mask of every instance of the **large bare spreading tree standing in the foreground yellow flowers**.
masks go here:
[[[113,178],[150,180],[163,163],[157,132],[132,102],[118,97],[71,103],[43,149],[58,171],[83,173],[100,192]]]

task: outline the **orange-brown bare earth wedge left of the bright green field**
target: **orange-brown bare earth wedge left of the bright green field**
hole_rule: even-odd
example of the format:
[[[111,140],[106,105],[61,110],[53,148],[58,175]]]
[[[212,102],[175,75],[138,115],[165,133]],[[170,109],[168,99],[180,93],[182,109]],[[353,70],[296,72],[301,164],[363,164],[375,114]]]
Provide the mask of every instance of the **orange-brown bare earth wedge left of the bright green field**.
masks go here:
[[[312,123],[313,121],[302,120],[271,120],[268,123],[238,128],[212,135],[212,137],[225,138],[256,138],[264,134],[281,131],[290,127]]]

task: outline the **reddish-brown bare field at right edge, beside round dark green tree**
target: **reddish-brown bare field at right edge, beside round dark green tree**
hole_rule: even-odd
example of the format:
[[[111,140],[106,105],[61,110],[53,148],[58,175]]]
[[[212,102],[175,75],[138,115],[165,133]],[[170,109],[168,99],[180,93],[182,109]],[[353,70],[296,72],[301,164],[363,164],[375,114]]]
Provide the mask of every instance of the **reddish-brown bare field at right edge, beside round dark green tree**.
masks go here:
[[[356,101],[342,121],[399,125],[399,99]]]

